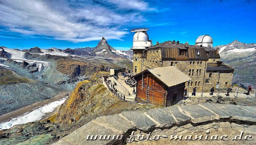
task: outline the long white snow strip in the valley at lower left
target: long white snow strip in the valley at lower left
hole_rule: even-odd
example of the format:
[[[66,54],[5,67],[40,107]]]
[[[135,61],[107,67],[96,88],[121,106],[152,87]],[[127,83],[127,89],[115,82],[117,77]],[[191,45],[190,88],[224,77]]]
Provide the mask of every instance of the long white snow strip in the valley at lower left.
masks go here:
[[[67,96],[68,97],[68,96]],[[12,118],[10,121],[2,122],[0,123],[0,130],[2,129],[9,129],[14,125],[19,125],[19,124],[25,124],[28,122],[34,122],[42,119],[42,117],[49,112],[54,111],[54,109],[63,104],[67,97],[64,97],[60,100],[45,104],[44,106],[37,107],[31,112],[26,112],[23,115],[20,115],[16,118]]]

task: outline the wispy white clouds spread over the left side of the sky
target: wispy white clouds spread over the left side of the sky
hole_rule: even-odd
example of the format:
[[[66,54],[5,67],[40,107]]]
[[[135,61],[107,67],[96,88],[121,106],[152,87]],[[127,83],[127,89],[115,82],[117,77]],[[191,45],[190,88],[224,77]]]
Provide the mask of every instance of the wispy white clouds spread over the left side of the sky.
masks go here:
[[[146,22],[142,11],[154,10],[138,0],[1,0],[0,26],[23,37],[121,40],[129,33],[122,26]]]

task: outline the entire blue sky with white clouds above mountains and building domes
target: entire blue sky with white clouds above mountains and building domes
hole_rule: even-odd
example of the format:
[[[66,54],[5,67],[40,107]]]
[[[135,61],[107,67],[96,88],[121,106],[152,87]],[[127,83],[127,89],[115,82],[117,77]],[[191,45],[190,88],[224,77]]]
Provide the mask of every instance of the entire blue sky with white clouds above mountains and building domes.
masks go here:
[[[0,46],[8,48],[132,46],[131,28],[148,27],[157,41],[194,44],[209,34],[214,46],[256,42],[255,0],[1,0]]]

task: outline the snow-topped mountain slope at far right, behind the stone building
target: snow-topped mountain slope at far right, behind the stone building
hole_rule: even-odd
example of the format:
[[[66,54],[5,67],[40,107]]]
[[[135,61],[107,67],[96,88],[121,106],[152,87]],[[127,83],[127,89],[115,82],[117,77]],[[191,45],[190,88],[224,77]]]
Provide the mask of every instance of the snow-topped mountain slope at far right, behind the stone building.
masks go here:
[[[246,88],[256,86],[256,44],[233,41],[220,48],[220,59],[235,69],[233,83]],[[216,47],[215,47],[216,48]]]

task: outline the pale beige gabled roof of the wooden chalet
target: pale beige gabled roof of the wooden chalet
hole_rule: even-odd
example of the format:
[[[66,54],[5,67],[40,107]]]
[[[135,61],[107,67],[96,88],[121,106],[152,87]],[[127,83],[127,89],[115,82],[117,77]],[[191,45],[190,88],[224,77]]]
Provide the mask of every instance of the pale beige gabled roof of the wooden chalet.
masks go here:
[[[185,75],[183,72],[176,69],[176,67],[174,66],[147,69],[143,72],[138,73],[134,77],[139,76],[146,71],[150,72],[160,81],[162,81],[167,87],[175,86],[177,84],[185,83],[187,81],[192,80],[189,76]]]

